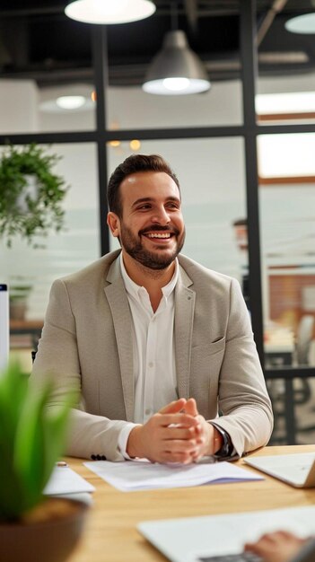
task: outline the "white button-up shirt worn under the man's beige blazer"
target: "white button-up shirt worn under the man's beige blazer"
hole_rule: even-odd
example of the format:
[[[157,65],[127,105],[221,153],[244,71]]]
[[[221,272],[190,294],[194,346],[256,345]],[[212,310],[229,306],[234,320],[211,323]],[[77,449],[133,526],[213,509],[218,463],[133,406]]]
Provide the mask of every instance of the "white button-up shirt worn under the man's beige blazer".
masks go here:
[[[137,424],[144,424],[159,409],[177,400],[177,379],[174,349],[174,296],[179,277],[179,264],[168,285],[162,287],[162,299],[155,312],[144,286],[127,275],[120,254],[120,268],[127,291],[127,299],[133,319],[135,424],[122,429],[118,447],[126,459],[127,439]]]

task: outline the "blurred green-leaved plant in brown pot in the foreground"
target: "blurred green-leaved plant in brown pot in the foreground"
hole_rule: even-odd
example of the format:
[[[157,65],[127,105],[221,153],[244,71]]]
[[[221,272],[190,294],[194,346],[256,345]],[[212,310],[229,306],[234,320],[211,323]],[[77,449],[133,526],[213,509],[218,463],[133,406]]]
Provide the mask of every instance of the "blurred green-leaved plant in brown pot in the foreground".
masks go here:
[[[31,387],[18,363],[0,373],[0,560],[62,562],[80,537],[87,505],[43,495],[66,437],[74,396],[54,412],[51,383]]]

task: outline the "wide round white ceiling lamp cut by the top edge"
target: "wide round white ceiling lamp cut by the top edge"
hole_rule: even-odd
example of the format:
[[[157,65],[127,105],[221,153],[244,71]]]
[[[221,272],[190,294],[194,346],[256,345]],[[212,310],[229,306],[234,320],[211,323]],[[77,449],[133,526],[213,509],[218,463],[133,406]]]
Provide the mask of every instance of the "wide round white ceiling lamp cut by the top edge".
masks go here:
[[[65,9],[77,22],[103,24],[136,22],[154,12],[151,0],[75,0]]]

